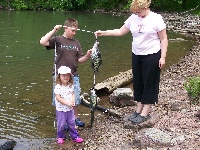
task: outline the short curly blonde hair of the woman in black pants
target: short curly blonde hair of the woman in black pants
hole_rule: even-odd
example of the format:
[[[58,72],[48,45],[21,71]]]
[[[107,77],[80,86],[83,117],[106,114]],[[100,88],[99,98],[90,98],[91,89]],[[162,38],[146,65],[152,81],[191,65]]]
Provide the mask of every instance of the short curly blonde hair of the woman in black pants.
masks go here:
[[[149,8],[151,0],[133,0],[130,6],[131,12],[136,12],[138,9]]]

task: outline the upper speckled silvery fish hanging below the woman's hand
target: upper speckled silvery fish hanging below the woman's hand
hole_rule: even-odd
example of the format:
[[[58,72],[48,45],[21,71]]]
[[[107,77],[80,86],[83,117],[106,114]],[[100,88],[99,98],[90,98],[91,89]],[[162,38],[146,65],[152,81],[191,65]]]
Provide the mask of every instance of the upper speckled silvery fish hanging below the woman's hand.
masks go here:
[[[99,51],[99,42],[96,39],[94,46],[92,47],[92,68],[94,73],[97,73],[99,70],[99,66],[102,64],[101,53]]]

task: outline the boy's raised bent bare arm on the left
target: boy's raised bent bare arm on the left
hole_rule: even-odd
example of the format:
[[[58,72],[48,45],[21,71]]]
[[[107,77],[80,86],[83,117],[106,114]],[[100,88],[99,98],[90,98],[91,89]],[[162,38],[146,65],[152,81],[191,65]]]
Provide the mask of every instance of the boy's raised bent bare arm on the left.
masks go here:
[[[40,44],[43,46],[49,46],[49,39],[58,31],[62,25],[56,25],[53,30],[49,31],[45,36],[40,39]]]

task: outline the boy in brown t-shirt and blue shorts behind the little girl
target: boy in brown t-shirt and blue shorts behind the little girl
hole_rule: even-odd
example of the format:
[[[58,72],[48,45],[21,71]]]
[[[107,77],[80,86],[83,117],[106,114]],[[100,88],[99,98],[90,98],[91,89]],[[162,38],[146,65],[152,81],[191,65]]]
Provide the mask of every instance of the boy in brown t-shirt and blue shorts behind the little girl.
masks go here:
[[[53,37],[53,35],[62,27],[64,27],[63,35]],[[74,39],[77,29],[78,29],[78,21],[73,18],[69,18],[65,21],[64,26],[56,25],[53,30],[44,35],[40,40],[40,44],[45,46],[47,50],[56,48],[55,55],[57,56],[54,62],[56,65],[54,65],[52,73],[53,88],[55,86],[55,78],[54,78],[55,67],[56,67],[56,73],[57,73],[57,68],[60,68],[60,66],[67,66],[71,68],[73,74],[74,92],[75,92],[75,106],[74,106],[75,123],[79,127],[84,127],[85,123],[78,118],[77,106],[81,103],[81,99],[80,99],[80,81],[77,68],[78,68],[78,63],[84,63],[90,58],[91,50],[88,50],[86,55],[83,55],[79,41]],[[52,105],[55,106],[54,94],[53,94]]]

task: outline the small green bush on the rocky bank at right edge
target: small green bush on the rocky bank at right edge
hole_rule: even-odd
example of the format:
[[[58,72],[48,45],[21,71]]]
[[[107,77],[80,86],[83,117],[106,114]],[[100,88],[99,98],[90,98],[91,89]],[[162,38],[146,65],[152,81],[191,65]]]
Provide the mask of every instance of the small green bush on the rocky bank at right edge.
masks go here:
[[[194,102],[200,102],[200,76],[188,78],[184,83],[188,95]]]

